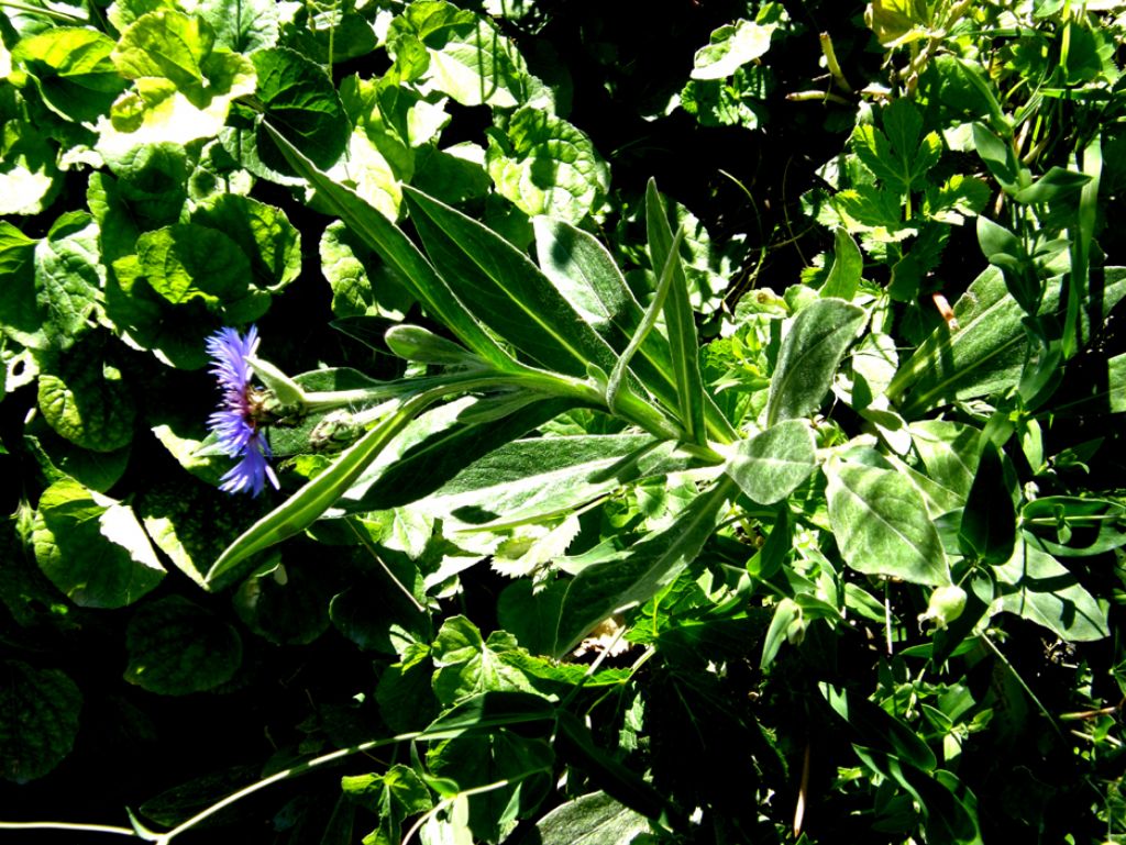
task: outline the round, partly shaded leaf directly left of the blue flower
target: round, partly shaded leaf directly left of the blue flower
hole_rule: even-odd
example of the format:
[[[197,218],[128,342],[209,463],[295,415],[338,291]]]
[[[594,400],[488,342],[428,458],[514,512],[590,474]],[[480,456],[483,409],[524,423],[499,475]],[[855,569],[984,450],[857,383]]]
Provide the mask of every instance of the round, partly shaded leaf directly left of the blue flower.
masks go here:
[[[111,452],[133,440],[136,407],[120,371],[104,359],[100,338],[45,362],[38,402],[51,428],[75,446]]]

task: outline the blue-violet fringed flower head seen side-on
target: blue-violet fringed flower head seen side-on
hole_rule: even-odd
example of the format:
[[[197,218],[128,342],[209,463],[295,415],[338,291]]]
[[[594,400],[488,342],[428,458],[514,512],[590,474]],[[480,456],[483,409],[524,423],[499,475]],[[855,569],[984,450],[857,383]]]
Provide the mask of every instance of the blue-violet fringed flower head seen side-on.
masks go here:
[[[220,489],[227,493],[249,492],[258,495],[266,479],[277,488],[278,477],[267,458],[270,446],[260,425],[262,392],[251,386],[253,375],[247,357],[258,348],[258,329],[250,326],[245,336],[234,329],[221,329],[207,339],[207,353],[214,365],[212,374],[223,388],[218,411],[207,424],[218,438],[220,448],[232,458],[241,460],[223,476]]]

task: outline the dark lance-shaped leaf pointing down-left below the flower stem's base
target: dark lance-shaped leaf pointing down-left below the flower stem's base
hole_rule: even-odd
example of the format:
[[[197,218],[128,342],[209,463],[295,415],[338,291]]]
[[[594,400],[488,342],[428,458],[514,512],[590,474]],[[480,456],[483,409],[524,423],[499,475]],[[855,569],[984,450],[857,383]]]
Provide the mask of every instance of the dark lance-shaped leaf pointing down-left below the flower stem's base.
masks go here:
[[[664,530],[574,576],[560,603],[553,654],[566,654],[599,622],[649,601],[658,590],[671,584],[704,548],[734,487],[735,483],[724,477],[697,496]]]

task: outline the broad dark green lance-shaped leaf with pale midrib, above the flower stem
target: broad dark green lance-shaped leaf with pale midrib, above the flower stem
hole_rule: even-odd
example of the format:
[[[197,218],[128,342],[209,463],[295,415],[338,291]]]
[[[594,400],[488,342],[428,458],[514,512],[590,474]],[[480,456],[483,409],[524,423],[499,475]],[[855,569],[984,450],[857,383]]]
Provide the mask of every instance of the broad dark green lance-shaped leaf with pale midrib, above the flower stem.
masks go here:
[[[415,189],[404,192],[438,271],[465,286],[474,315],[545,367],[586,377],[587,366],[613,369],[617,356],[511,243]]]

